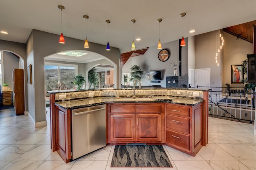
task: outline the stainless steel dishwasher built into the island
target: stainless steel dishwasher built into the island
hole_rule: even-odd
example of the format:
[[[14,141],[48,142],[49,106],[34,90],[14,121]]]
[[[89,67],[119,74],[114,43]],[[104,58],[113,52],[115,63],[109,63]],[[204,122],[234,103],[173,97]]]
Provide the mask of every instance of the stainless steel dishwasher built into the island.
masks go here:
[[[106,105],[72,109],[72,159],[106,146]]]

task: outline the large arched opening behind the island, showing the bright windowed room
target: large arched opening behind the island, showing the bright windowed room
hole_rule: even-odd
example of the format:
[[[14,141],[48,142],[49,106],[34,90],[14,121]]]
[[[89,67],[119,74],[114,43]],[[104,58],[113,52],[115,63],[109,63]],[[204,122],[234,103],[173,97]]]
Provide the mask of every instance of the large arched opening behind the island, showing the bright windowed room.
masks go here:
[[[86,84],[82,86],[82,89],[90,88],[88,71],[95,66],[98,66],[99,69],[102,67],[106,69],[107,67],[111,68],[114,74],[112,84],[113,86],[117,84],[116,64],[98,53],[85,50],[68,50],[44,57],[46,107],[49,105],[49,94],[47,91],[74,89],[74,85],[70,82],[74,81],[73,78],[75,75],[82,74],[85,77]],[[103,88],[103,86],[99,85],[98,88]]]

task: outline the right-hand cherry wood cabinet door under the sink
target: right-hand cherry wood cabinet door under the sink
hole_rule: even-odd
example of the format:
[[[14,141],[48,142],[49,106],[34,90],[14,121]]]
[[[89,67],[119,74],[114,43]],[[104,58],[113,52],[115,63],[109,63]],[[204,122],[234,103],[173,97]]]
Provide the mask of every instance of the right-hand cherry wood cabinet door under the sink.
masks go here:
[[[161,114],[136,115],[136,141],[158,142],[162,141]]]

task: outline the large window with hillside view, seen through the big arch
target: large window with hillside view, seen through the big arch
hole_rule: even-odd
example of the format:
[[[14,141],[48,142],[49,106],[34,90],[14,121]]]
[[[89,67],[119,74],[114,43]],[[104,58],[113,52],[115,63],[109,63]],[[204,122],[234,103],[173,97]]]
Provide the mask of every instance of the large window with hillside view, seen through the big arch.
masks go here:
[[[66,87],[72,89],[74,86],[71,82],[75,80],[74,76],[78,74],[78,65],[45,63],[44,71],[46,91],[57,90],[59,83],[65,84]]]

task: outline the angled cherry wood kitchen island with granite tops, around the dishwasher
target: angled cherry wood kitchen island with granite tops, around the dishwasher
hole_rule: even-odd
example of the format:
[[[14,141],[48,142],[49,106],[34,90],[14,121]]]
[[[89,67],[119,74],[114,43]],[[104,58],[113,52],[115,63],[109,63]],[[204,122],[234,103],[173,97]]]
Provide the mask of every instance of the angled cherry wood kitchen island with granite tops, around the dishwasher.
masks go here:
[[[135,97],[131,89],[49,93],[51,147],[65,162],[73,159],[72,110],[102,104],[107,145],[168,145],[195,156],[208,143],[208,90],[136,89]]]

